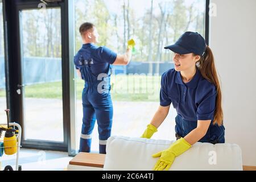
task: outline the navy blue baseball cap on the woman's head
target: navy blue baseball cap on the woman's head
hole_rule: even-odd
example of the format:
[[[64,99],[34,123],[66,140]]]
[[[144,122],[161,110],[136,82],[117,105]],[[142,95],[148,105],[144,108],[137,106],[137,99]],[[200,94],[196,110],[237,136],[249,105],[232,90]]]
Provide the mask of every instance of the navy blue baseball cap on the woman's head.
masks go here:
[[[205,39],[197,32],[185,32],[174,45],[164,47],[170,49],[180,55],[187,53],[195,53],[196,55],[204,56],[207,44]]]

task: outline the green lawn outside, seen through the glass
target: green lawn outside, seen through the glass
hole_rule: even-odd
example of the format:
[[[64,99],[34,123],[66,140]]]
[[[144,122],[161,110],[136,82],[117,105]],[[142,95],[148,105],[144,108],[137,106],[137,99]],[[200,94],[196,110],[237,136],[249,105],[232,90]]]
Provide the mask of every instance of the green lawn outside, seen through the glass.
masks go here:
[[[113,101],[159,101],[160,76],[113,75]],[[77,99],[82,99],[84,80],[76,80]],[[5,97],[5,90],[0,90],[0,97]],[[29,85],[25,88],[27,98],[62,98],[61,82]]]

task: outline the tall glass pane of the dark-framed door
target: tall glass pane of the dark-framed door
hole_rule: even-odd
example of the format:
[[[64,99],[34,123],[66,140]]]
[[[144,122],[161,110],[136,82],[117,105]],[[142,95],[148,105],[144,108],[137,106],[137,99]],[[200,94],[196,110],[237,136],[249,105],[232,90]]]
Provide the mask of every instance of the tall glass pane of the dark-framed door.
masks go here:
[[[63,142],[60,9],[23,10],[25,139]]]

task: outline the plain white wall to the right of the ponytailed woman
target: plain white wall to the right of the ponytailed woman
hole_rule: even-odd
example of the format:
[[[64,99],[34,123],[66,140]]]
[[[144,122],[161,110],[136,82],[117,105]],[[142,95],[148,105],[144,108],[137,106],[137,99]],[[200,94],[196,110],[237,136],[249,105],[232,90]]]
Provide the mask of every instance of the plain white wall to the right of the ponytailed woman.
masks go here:
[[[256,1],[211,3],[217,14],[209,44],[221,78],[226,142],[242,148],[243,165],[256,166]]]

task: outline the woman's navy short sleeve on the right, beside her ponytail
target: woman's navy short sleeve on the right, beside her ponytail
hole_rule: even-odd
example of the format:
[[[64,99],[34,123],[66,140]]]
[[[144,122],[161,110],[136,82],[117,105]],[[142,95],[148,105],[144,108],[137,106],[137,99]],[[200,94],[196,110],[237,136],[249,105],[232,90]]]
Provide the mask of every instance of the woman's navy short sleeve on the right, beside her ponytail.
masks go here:
[[[197,120],[213,120],[214,119],[214,111],[216,104],[216,88],[214,85],[204,86],[201,90],[202,97],[199,106],[197,107]]]

